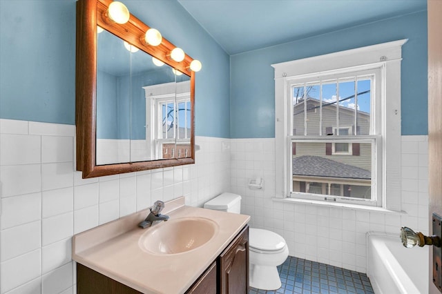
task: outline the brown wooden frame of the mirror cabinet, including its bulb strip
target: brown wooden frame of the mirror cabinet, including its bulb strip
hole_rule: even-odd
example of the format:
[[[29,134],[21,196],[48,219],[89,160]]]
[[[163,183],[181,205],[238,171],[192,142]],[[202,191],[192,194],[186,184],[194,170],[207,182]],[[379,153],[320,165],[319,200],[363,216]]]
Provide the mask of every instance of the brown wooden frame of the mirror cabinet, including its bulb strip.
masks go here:
[[[162,39],[159,46],[145,45],[142,37],[148,26],[131,14],[125,24],[106,20],[106,11],[112,0],[77,1],[77,46],[75,68],[75,124],[77,128],[77,170],[83,178],[101,177],[140,170],[165,168],[195,163],[195,72],[189,70],[191,57],[176,62],[167,56],[175,46]],[[97,26],[133,44],[140,50],[160,59],[191,77],[191,154],[190,157],[128,162],[97,166],[96,153],[96,107],[97,107]]]

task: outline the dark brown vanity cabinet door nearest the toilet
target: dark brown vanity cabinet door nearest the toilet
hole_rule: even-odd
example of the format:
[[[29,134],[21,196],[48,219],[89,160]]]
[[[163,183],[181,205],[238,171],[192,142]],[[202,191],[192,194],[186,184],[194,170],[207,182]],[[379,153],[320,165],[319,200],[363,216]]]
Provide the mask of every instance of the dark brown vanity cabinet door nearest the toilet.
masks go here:
[[[220,293],[249,293],[249,226],[220,255]]]

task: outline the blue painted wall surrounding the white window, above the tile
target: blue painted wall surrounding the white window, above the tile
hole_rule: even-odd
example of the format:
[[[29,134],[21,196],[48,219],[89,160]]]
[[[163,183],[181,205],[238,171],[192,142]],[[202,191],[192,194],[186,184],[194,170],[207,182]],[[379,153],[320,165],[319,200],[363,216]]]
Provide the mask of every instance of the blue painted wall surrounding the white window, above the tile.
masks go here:
[[[231,56],[231,138],[275,137],[272,63],[409,39],[401,70],[402,135],[427,135],[427,12]]]

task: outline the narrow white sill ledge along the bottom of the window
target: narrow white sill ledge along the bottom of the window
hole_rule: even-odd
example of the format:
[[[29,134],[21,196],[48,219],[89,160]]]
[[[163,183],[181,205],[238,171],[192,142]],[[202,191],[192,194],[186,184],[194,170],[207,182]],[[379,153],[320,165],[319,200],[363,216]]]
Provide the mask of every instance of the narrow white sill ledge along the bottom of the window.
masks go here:
[[[405,211],[396,211],[390,210],[382,207],[376,206],[363,206],[358,204],[348,204],[348,203],[339,203],[339,202],[323,202],[318,200],[310,200],[310,199],[294,199],[294,198],[271,198],[274,202],[283,202],[283,203],[291,203],[291,204],[309,204],[316,206],[327,206],[327,207],[338,207],[338,208],[346,208],[352,210],[364,210],[371,211],[375,213],[389,213],[395,215],[407,215]]]

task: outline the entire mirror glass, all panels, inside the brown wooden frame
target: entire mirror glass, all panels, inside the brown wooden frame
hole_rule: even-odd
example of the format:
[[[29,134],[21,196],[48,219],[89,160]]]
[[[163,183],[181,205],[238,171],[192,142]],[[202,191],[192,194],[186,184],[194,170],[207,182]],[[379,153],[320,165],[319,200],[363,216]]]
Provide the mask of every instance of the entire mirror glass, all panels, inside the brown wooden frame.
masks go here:
[[[96,164],[191,157],[191,78],[97,34]]]

